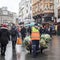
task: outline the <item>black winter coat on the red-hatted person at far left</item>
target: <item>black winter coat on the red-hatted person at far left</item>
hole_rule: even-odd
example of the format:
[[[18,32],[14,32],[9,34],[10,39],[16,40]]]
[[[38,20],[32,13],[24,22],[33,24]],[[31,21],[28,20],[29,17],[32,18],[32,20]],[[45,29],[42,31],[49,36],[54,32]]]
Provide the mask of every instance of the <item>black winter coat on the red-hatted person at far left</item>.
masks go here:
[[[0,43],[7,44],[10,40],[10,33],[6,27],[0,29]]]

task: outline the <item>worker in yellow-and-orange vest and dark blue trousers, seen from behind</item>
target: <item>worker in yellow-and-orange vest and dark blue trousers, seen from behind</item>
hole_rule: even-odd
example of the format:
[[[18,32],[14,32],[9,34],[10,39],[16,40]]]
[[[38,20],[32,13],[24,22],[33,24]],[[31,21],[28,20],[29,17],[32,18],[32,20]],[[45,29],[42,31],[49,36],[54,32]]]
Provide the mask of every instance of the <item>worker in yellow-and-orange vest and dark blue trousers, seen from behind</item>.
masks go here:
[[[36,57],[37,51],[39,50],[39,40],[40,40],[40,32],[38,24],[35,24],[35,26],[32,27],[31,40],[32,40],[32,55],[33,57]]]

